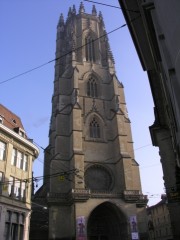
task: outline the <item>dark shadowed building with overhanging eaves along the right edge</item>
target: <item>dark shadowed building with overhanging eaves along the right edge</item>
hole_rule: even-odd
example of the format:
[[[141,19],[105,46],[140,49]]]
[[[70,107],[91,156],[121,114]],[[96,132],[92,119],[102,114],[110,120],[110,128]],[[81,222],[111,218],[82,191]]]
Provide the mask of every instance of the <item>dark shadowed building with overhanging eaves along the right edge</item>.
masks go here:
[[[159,147],[174,240],[180,239],[180,1],[119,0],[154,100],[150,126]]]

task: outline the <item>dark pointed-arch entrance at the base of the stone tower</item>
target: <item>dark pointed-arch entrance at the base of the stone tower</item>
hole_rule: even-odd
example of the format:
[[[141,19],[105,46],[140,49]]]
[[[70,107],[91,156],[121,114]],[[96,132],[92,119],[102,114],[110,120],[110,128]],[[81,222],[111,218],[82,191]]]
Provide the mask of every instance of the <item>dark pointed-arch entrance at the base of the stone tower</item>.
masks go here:
[[[128,227],[124,214],[112,203],[97,206],[87,222],[88,240],[127,240]]]

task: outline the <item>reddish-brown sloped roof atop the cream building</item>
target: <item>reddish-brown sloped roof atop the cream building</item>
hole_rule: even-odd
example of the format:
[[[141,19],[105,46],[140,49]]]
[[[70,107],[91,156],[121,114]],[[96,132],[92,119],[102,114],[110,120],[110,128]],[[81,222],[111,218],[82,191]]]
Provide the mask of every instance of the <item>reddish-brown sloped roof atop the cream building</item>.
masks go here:
[[[4,126],[10,128],[11,130],[14,130],[15,128],[21,128],[22,130],[24,130],[20,117],[11,112],[2,104],[0,104],[0,116],[3,119]]]

